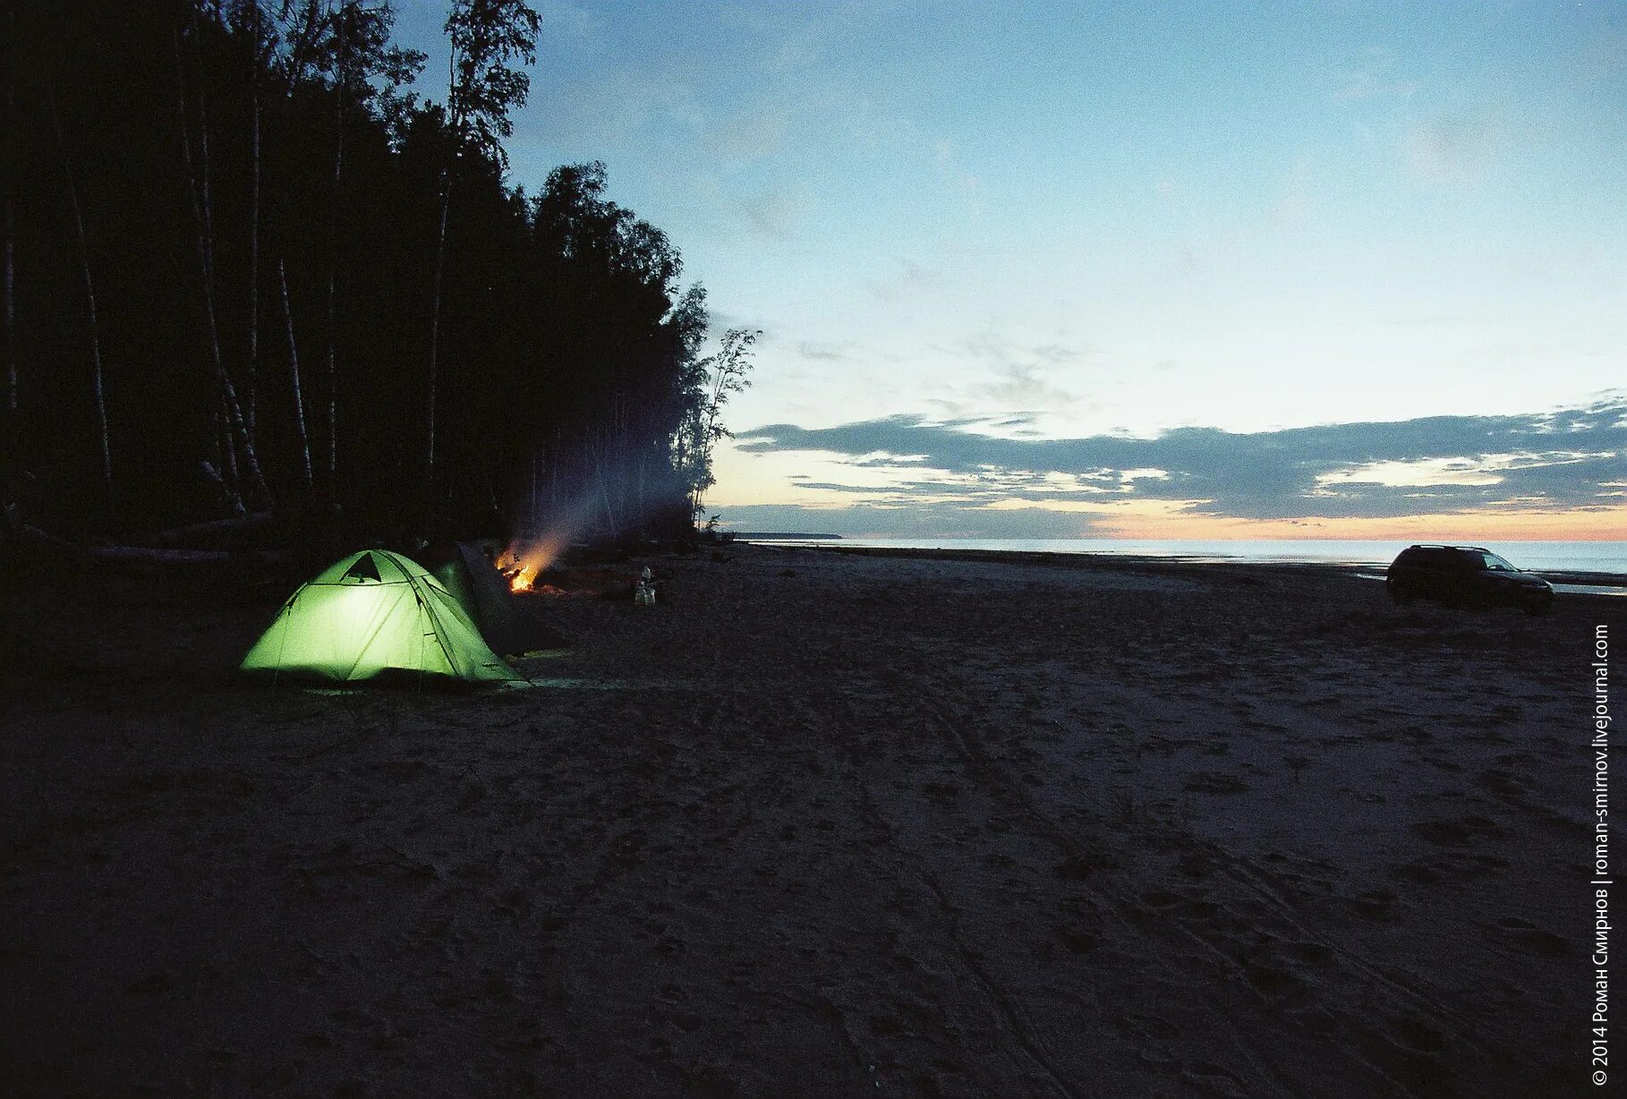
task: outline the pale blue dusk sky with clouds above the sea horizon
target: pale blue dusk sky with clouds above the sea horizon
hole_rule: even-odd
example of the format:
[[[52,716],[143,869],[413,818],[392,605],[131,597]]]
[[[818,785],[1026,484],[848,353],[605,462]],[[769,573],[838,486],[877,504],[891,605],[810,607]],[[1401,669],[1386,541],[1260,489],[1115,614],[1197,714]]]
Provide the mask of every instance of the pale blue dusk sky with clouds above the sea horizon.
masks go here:
[[[511,182],[763,332],[726,528],[1627,537],[1627,5],[534,7]]]

